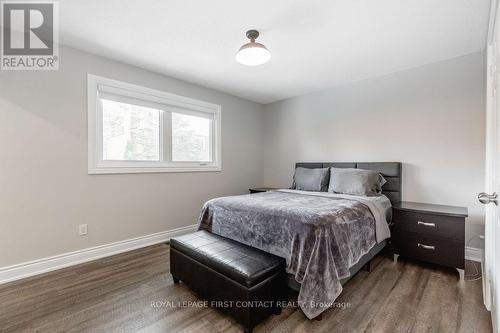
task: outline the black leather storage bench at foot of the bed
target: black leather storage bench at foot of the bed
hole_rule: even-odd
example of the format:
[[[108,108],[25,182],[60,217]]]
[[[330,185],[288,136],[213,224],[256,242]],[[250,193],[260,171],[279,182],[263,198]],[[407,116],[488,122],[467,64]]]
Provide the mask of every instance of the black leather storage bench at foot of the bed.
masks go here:
[[[286,300],[283,258],[206,231],[170,240],[170,272],[245,332]]]

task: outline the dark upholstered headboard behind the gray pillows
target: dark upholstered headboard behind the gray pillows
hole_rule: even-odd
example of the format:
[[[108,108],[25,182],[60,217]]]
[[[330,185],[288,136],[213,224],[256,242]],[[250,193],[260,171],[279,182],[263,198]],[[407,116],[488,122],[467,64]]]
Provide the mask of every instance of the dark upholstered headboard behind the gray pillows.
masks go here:
[[[378,171],[387,180],[387,183],[382,186],[382,193],[391,200],[392,204],[401,201],[401,162],[300,162],[296,163],[295,167],[357,168]]]

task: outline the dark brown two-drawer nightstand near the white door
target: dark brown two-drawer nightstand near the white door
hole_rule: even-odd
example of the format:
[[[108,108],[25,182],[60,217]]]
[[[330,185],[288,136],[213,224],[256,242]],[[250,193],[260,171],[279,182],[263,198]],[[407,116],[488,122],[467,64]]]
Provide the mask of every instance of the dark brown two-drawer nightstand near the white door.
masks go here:
[[[402,201],[392,209],[395,262],[411,257],[456,268],[464,278],[467,208]]]

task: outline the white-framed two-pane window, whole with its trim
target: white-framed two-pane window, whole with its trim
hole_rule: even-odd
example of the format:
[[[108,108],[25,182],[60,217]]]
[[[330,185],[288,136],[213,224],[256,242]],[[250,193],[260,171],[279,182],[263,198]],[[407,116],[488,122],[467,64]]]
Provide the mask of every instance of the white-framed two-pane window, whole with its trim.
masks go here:
[[[219,105],[89,75],[89,174],[220,171]]]

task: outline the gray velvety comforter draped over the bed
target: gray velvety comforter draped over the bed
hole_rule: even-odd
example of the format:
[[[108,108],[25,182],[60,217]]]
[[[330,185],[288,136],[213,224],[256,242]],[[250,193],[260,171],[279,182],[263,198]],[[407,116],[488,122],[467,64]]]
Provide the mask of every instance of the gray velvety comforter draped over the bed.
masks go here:
[[[198,228],[285,258],[308,318],[330,307],[349,268],[389,237],[384,208],[373,200],[292,190],[210,200]]]

